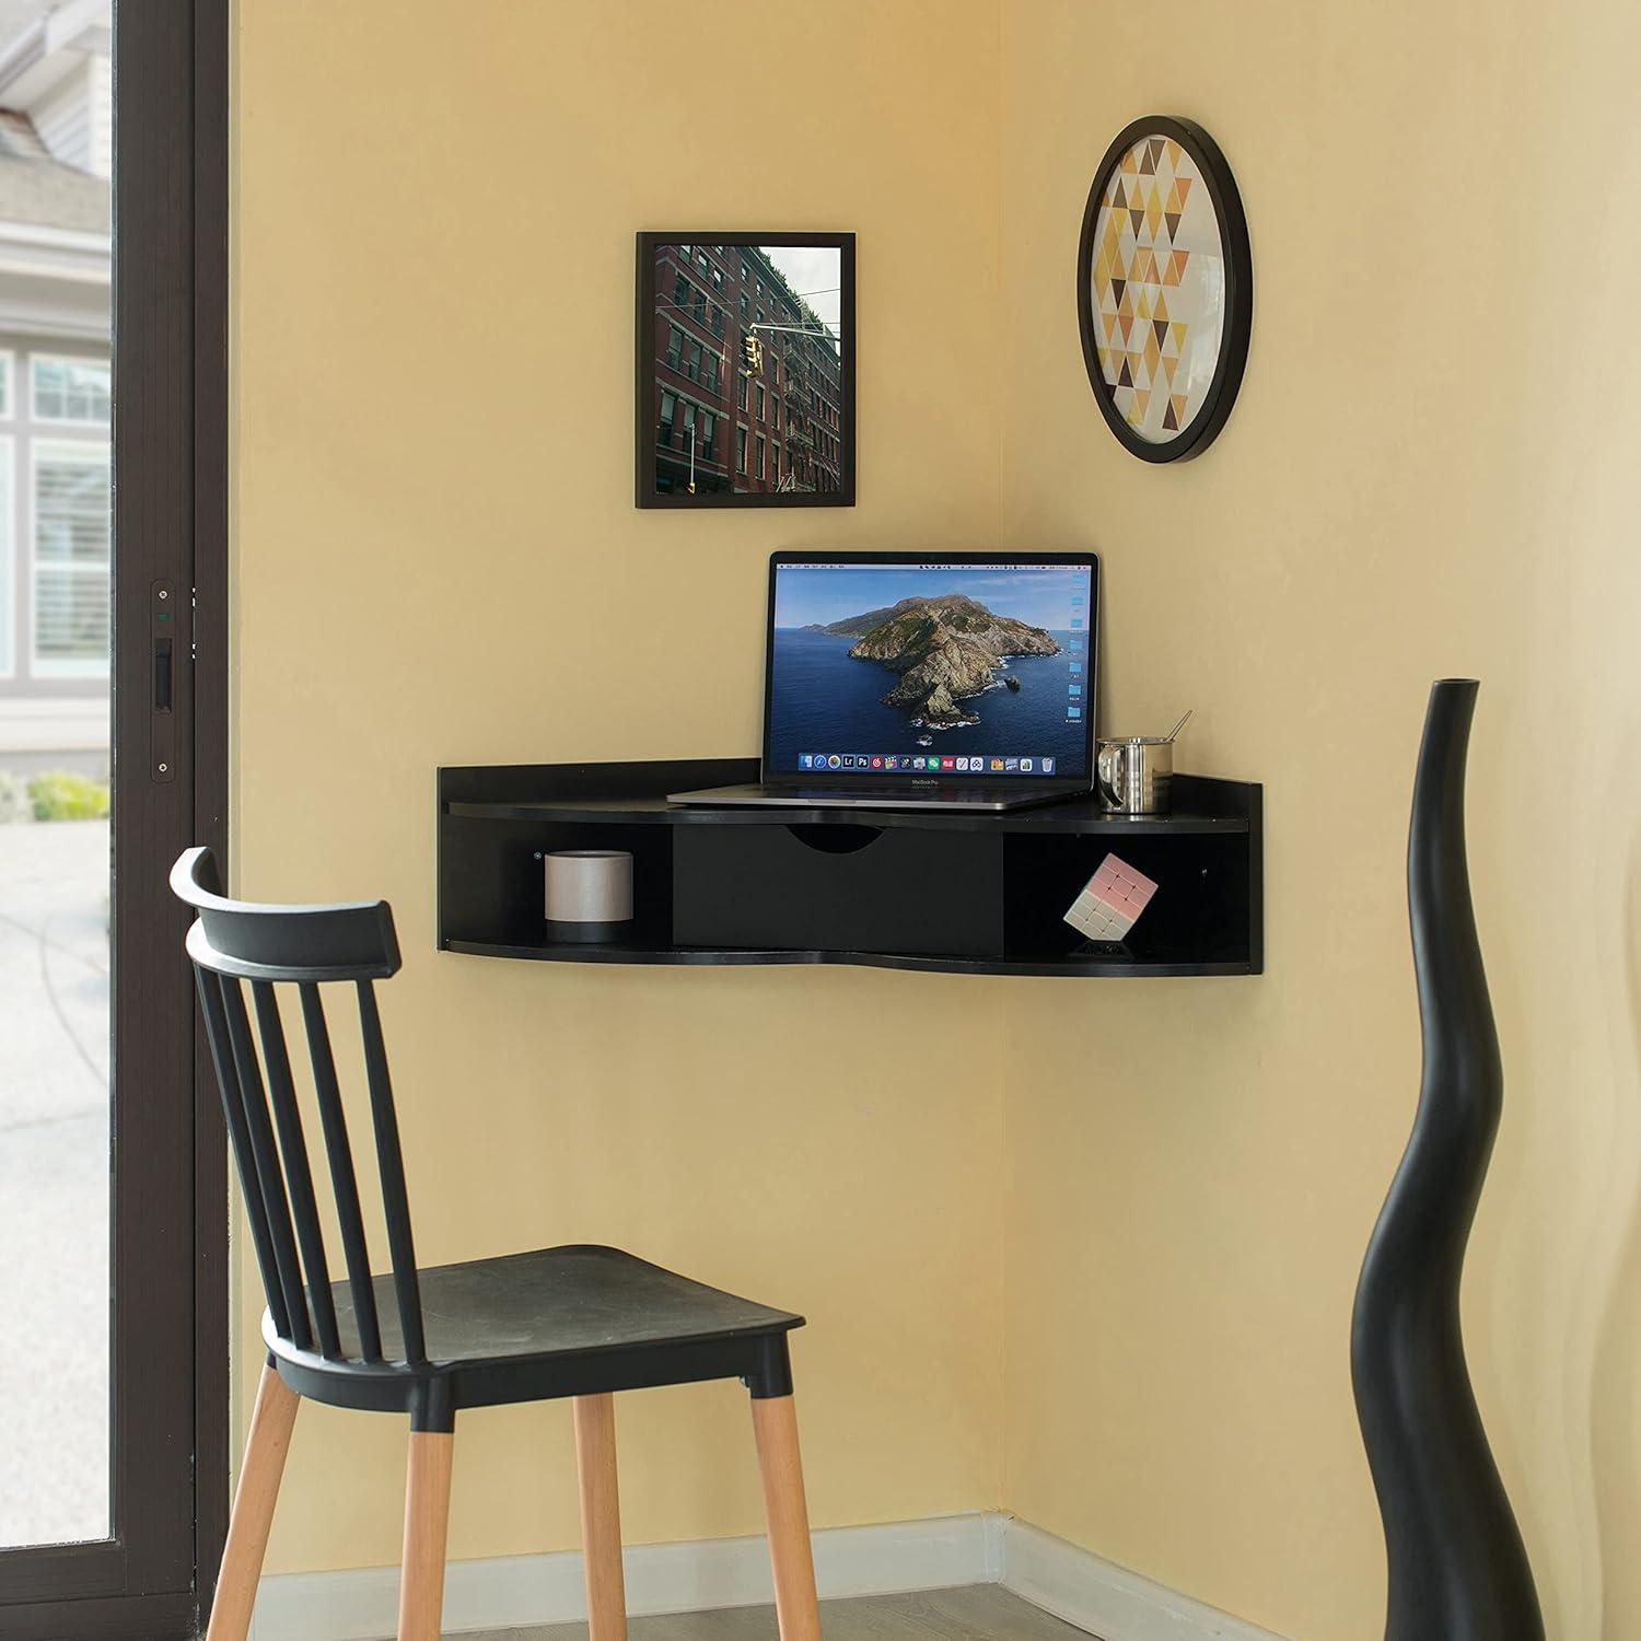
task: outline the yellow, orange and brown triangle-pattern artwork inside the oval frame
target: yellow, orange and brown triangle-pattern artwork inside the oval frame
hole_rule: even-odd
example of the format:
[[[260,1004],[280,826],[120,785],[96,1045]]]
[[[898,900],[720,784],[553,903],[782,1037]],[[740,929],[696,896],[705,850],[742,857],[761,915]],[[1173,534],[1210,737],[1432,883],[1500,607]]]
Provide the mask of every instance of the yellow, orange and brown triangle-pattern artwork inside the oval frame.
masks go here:
[[[1142,136],[1099,194],[1093,346],[1118,414],[1149,443],[1190,428],[1224,338],[1224,243],[1200,182],[1180,143]]]

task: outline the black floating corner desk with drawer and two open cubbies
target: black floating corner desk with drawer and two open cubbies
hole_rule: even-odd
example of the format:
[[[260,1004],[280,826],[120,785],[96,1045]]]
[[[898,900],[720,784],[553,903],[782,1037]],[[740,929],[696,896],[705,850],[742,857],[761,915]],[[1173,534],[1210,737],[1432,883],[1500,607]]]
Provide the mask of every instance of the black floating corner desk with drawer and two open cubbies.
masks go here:
[[[1262,793],[1173,778],[1168,816],[1078,798],[1014,814],[678,807],[755,758],[438,771],[438,944],[561,963],[862,963],[962,975],[1257,975]],[[633,919],[599,944],[543,919],[542,857],[624,848]],[[1108,853],[1157,894],[1121,947],[1063,912]]]

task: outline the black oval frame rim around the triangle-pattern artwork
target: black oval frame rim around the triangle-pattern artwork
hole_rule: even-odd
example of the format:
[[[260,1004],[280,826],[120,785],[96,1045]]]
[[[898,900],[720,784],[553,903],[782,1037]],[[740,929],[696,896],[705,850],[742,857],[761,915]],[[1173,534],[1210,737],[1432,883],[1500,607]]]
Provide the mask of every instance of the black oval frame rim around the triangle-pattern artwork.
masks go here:
[[[1142,438],[1124,420],[1116,407],[1113,389],[1106,384],[1099,368],[1095,345],[1091,277],[1099,205],[1111,172],[1122,162],[1122,156],[1145,136],[1172,138],[1191,156],[1219,222],[1226,271],[1224,331],[1214,377],[1196,415],[1180,430],[1177,438],[1170,438],[1167,443]],[[1145,115],[1126,125],[1106,149],[1088,190],[1083,231],[1076,245],[1076,325],[1083,340],[1088,386],[1095,392],[1095,402],[1106,418],[1106,427],[1111,428],[1124,450],[1142,461],[1185,461],[1200,456],[1214,441],[1236,404],[1237,389],[1242,386],[1242,371],[1247,364],[1249,336],[1254,328],[1254,263],[1247,238],[1247,215],[1242,210],[1242,195],[1237,192],[1236,177],[1231,174],[1231,166],[1219,144],[1195,121],[1172,115]]]

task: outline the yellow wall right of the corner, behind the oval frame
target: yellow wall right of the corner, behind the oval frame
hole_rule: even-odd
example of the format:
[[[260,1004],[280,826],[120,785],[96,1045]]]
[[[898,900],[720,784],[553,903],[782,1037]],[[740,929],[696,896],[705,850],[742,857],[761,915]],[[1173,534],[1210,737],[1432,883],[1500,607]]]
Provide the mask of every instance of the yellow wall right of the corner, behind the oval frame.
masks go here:
[[[1104,722],[1195,706],[1182,761],[1270,822],[1262,980],[1011,983],[1004,1497],[1283,1634],[1382,1633],[1351,1296],[1418,1088],[1424,694],[1474,674],[1508,1091],[1472,1365],[1551,1633],[1641,1634],[1636,13],[1004,21],[1003,538],[1104,550]],[[1241,402],[1162,469],[1106,433],[1072,300],[1091,171],[1159,110],[1216,133],[1255,259]]]

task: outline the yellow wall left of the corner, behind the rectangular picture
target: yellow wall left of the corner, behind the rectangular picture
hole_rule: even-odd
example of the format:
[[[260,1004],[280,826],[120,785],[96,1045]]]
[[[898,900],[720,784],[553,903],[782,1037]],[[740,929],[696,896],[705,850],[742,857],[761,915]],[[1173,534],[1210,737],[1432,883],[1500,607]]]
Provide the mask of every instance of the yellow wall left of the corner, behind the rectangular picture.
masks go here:
[[[610,1241],[806,1311],[820,1523],[1001,1487],[998,990],[438,955],[433,768],[753,753],[771,548],[994,540],[967,16],[994,34],[945,0],[829,7],[820,41],[765,7],[711,59],[661,3],[238,11],[238,883],[394,903],[425,1262]],[[860,235],[850,512],[632,507],[632,236],[719,225]],[[627,1398],[622,1439],[633,1539],[758,1526],[737,1387]],[[305,1410],[269,1567],[397,1559],[402,1446]],[[456,1556],[573,1544],[568,1413],[469,1418],[455,1488]]]

